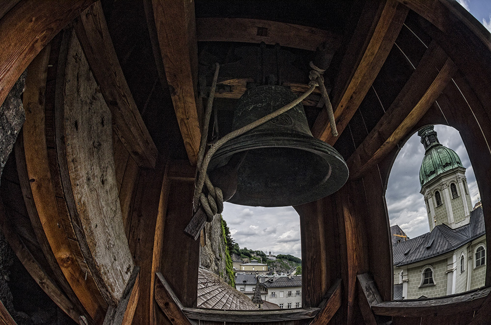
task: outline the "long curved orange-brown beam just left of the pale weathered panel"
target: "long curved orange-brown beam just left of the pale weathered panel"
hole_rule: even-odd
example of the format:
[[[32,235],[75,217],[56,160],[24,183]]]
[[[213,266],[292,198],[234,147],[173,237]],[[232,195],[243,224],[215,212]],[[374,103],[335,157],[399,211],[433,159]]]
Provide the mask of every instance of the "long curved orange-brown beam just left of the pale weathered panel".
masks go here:
[[[60,226],[64,222],[58,213],[49,169],[44,117],[48,56],[49,49],[36,58],[28,79],[27,93],[24,97],[28,116],[24,129],[24,150],[21,147],[16,148],[19,179],[22,180],[21,186],[29,218],[48,263],[67,294],[70,295],[70,291],[73,290],[88,315],[96,319],[102,313],[101,307],[86,283],[80,281],[83,273],[78,263],[73,263],[76,262],[76,257],[70,249],[64,227]],[[71,289],[64,285],[65,281],[68,281]],[[71,297],[72,301],[77,301],[77,298]]]

